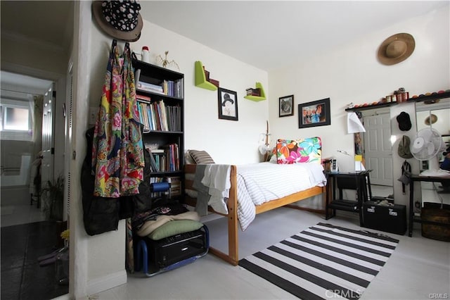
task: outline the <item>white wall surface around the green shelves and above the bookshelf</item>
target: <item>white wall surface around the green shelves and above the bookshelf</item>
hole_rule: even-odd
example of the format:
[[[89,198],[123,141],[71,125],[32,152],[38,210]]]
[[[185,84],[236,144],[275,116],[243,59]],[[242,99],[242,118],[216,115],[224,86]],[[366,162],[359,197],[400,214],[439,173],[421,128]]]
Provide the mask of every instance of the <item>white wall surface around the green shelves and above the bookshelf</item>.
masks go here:
[[[90,105],[98,107],[101,85],[112,39],[93,29]],[[124,43],[120,43],[123,49]],[[130,43],[131,50],[141,52],[150,47],[150,63],[161,65],[156,56],[164,57],[169,51],[169,61],[176,61],[184,74],[184,128],[185,149],[207,150],[217,163],[256,163],[259,135],[265,131],[268,119],[268,101],[244,99],[245,89],[262,82],[269,92],[268,75],[251,65],[214,51],[186,37],[144,21],[141,38]],[[139,56],[138,56],[139,57]],[[220,87],[238,93],[238,121],[219,120],[217,91],[195,87],[194,63],[202,61],[211,77],[219,80]]]

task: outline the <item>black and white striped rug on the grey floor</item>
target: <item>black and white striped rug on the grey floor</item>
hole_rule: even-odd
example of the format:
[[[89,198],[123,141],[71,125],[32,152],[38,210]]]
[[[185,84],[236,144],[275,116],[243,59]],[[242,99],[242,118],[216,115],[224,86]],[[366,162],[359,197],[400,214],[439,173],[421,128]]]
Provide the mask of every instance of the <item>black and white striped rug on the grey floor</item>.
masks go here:
[[[239,261],[300,299],[359,299],[399,240],[319,223]]]

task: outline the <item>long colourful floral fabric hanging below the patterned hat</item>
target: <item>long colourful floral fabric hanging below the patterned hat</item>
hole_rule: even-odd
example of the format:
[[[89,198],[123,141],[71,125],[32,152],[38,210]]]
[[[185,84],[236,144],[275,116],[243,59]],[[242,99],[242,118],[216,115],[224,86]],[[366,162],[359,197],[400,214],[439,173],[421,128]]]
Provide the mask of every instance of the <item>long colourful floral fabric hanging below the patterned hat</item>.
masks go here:
[[[144,164],[131,51],[126,43],[120,56],[114,40],[94,130],[94,196],[139,194]]]

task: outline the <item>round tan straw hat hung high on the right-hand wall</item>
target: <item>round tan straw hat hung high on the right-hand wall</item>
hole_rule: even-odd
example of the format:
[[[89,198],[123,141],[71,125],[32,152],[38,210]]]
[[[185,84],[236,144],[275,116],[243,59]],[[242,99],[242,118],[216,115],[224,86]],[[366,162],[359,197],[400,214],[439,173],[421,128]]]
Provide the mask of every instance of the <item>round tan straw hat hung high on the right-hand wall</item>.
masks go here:
[[[378,61],[383,65],[394,65],[413,53],[416,42],[409,33],[397,33],[385,39],[378,49]]]

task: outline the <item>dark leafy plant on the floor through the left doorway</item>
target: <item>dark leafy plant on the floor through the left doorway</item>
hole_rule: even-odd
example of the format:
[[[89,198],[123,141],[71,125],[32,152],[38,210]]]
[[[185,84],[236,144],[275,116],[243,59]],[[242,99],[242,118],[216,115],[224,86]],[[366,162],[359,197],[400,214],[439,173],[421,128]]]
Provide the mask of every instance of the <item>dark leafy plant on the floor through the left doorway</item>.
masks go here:
[[[64,177],[59,175],[56,180],[48,180],[41,190],[44,199],[44,213],[49,220],[63,220]]]

